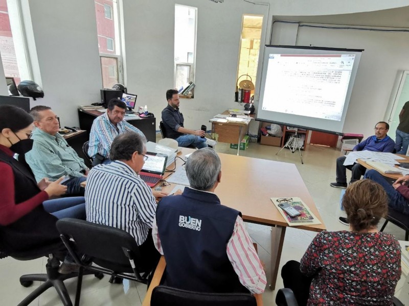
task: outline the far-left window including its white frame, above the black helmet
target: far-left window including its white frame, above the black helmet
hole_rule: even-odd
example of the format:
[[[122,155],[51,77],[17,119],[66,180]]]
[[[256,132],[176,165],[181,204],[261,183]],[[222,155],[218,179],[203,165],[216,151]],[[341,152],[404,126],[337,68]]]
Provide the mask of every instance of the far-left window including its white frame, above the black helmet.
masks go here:
[[[22,79],[32,80],[20,15],[17,2],[0,0],[1,60],[6,78],[13,78],[16,85]]]

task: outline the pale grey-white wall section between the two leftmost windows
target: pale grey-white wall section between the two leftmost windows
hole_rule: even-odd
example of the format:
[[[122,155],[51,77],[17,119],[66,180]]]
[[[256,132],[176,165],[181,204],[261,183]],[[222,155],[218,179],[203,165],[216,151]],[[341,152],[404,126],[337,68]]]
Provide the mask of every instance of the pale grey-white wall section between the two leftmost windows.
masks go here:
[[[95,3],[92,0],[30,0],[44,98],[61,125],[78,125],[77,106],[100,100],[102,88]]]

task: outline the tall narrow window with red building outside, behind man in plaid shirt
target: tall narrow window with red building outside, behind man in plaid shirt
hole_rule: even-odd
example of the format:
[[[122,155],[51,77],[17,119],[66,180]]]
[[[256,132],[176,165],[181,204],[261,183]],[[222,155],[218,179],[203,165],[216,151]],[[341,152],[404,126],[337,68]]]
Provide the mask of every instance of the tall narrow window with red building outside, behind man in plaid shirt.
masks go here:
[[[0,0],[1,1],[1,0]],[[95,0],[102,86],[124,83],[118,0]]]

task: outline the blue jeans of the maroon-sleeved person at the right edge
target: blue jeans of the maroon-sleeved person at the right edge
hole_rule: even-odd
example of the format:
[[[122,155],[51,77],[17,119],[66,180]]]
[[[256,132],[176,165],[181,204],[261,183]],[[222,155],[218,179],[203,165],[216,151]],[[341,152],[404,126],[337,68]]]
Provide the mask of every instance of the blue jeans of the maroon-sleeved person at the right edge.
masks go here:
[[[388,206],[398,212],[409,215],[409,202],[384,179],[384,177],[376,170],[368,170],[363,176],[364,179],[370,179],[380,185],[387,192],[389,203]]]

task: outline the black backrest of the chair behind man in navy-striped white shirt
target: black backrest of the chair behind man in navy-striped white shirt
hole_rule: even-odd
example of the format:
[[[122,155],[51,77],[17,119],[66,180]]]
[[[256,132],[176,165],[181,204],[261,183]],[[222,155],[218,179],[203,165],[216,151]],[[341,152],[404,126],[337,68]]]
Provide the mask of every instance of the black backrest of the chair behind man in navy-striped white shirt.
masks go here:
[[[130,267],[126,255],[129,251],[139,270],[141,254],[137,242],[129,233],[119,228],[72,218],[58,220],[57,229],[65,237],[64,243],[69,241],[76,252],[85,254],[97,265],[108,262]]]

